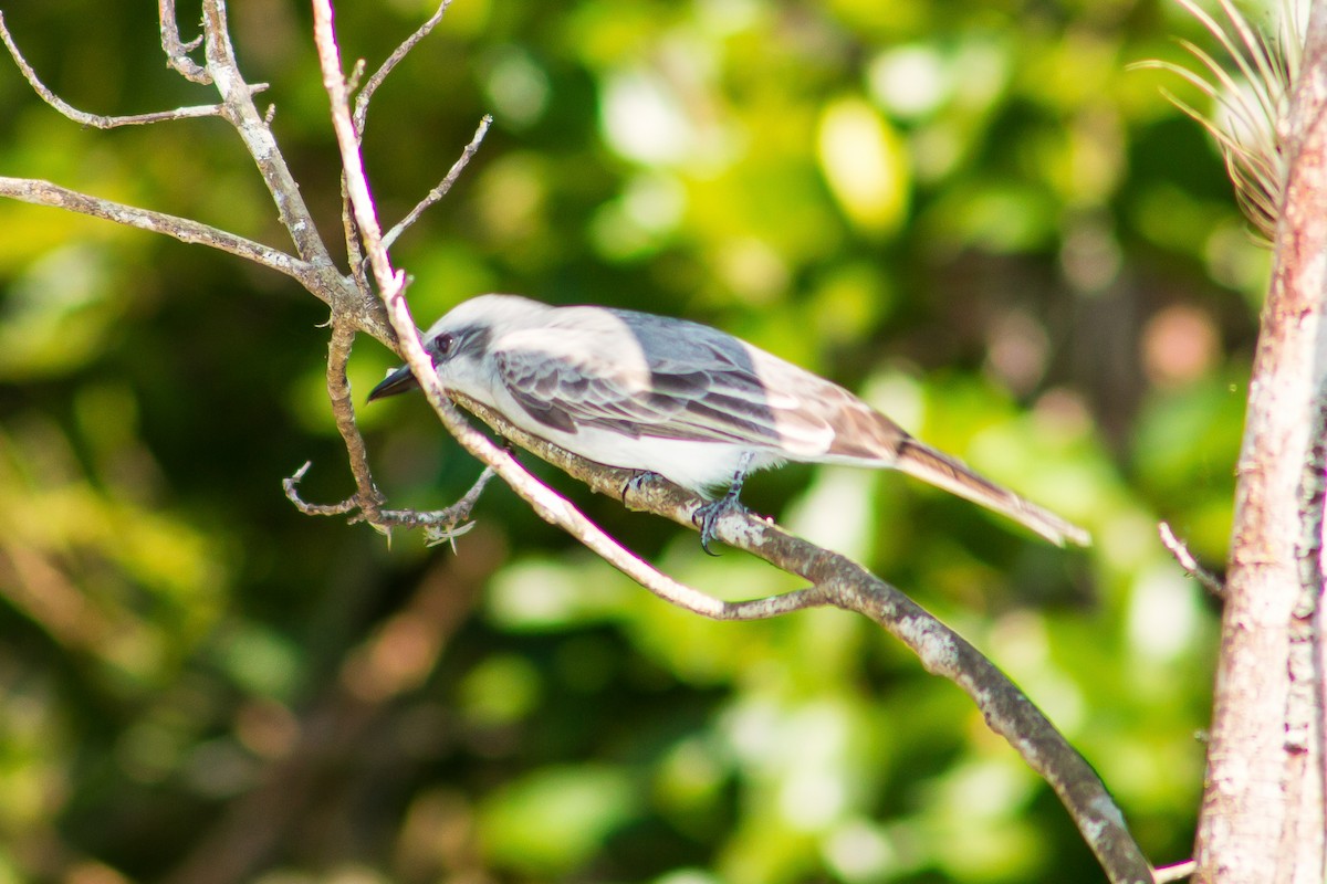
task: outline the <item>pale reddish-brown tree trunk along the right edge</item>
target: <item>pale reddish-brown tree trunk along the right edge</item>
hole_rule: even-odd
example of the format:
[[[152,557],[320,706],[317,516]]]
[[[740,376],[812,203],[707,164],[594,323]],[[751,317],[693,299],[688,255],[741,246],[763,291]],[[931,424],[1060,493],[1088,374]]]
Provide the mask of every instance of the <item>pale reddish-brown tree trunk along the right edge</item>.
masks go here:
[[[1204,884],[1323,884],[1327,4],[1308,23],[1289,175],[1238,465],[1208,781]]]

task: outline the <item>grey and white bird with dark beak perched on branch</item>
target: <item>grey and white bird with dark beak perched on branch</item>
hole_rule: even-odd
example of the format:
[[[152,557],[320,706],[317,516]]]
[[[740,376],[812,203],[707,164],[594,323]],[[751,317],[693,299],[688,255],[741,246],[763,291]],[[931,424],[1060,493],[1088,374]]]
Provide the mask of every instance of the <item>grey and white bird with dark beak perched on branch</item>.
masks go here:
[[[656,473],[710,498],[709,551],[746,476],[786,461],[897,469],[1002,513],[1052,543],[1087,531],[930,448],[843,387],[685,319],[512,294],[464,301],[423,335],[446,390],[587,460]],[[369,394],[418,387],[410,367]]]

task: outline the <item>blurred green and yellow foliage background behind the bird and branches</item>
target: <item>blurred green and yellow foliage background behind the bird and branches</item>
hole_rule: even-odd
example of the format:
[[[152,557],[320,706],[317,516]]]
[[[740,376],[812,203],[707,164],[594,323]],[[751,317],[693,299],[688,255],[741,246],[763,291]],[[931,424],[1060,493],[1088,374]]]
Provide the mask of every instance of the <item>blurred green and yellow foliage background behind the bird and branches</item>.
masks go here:
[[[212,99],[153,4],[5,5],[77,107]],[[431,7],[337,12],[373,69]],[[231,19],[336,245],[308,8]],[[1062,551],[851,469],[746,493],[986,651],[1158,864],[1192,839],[1217,607],[1156,524],[1220,569],[1269,264],[1160,87],[1197,97],[1127,70],[1181,60],[1176,34],[1212,44],[1169,0],[456,0],[365,140],[391,223],[495,117],[395,248],[421,321],[502,290],[710,322],[1088,526]],[[287,245],[224,123],[86,130],[8,60],[0,174]],[[231,257],[0,201],[0,881],[1103,880],[967,698],[861,618],[670,610],[499,486],[455,551],[299,514],[305,460],[311,500],[352,489],[325,318]],[[361,402],[391,363],[361,339]],[[360,417],[394,505],[478,473],[419,399]],[[531,465],[701,588],[796,586]]]

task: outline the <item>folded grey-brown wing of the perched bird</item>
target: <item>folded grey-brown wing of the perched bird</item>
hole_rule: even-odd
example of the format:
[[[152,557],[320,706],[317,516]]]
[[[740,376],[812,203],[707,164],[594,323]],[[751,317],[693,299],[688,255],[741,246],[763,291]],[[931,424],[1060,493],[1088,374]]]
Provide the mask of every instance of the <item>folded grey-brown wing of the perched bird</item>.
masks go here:
[[[800,415],[794,392],[771,390],[735,338],[678,323],[666,347],[649,334],[622,338],[540,333],[504,335],[494,358],[503,384],[539,423],[576,432],[597,427],[630,437],[722,441],[786,451],[791,441],[825,449],[833,429]],[[629,358],[624,359],[626,355]],[[798,370],[800,371],[800,370]],[[815,375],[803,372],[819,382]],[[828,384],[828,382],[820,382]]]

